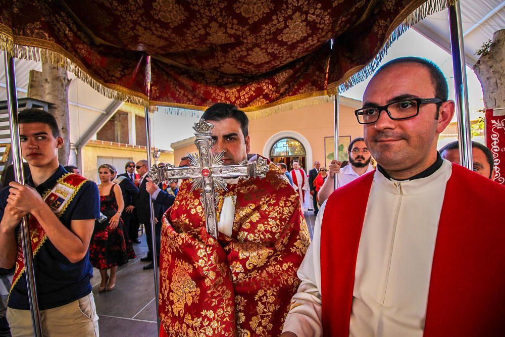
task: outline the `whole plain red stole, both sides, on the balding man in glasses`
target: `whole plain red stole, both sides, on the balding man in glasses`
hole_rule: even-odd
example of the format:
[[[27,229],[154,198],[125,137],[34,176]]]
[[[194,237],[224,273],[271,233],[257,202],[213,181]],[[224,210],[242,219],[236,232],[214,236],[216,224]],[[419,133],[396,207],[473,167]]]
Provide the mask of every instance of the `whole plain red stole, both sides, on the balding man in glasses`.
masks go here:
[[[356,259],[374,172],[340,187],[327,201],[321,227],[322,323],[327,336],[349,335]],[[503,186],[452,165],[424,336],[505,335],[505,220],[499,212],[504,200]]]

